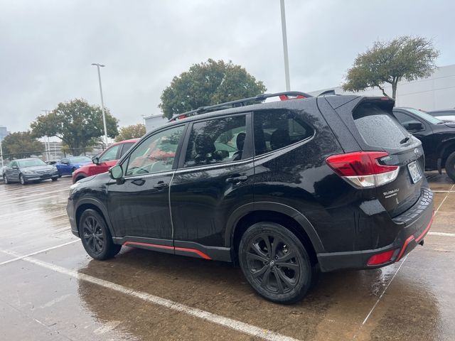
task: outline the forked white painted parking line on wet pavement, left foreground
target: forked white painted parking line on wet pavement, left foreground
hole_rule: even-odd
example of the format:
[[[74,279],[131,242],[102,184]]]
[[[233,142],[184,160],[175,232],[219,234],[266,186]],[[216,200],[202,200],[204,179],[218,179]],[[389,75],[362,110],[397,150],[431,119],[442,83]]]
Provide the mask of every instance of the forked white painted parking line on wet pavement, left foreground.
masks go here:
[[[73,241],[73,242],[75,242],[75,241]],[[70,244],[70,243],[67,243],[67,244]],[[58,247],[63,247],[63,246],[64,246],[64,244],[62,244]],[[55,248],[56,247],[54,247],[54,249]],[[42,250],[41,252],[44,252],[44,251],[47,251],[50,249],[52,249],[52,248]],[[185,313],[187,315],[191,315],[191,316],[194,316],[195,318],[200,318],[202,320],[206,320],[208,322],[215,323],[217,325],[222,325],[223,327],[227,327],[232,330],[237,330],[238,332],[243,332],[243,333],[245,333],[247,335],[251,335],[253,337],[260,337],[264,340],[270,340],[270,341],[297,341],[293,337],[288,337],[288,336],[279,334],[277,332],[272,332],[272,330],[267,330],[264,328],[256,327],[255,325],[249,325],[247,323],[243,323],[243,322],[240,322],[237,320],[232,320],[232,318],[225,318],[224,316],[209,313],[208,311],[205,311],[205,310],[191,308],[188,305],[170,301],[170,300],[167,300],[166,298],[154,296],[154,295],[151,295],[150,293],[145,293],[144,291],[135,291],[132,288],[127,288],[126,286],[121,286],[117,283],[105,281],[104,279],[97,278],[94,276],[81,274],[77,271],[63,268],[63,266],[58,266],[55,264],[50,264],[45,261],[40,261],[39,259],[32,258],[31,256],[28,256],[28,255],[21,256],[13,251],[7,251],[7,250],[0,250],[0,251],[4,252],[5,254],[9,254],[11,256],[16,256],[16,259],[14,259],[14,260],[22,259],[23,261],[28,261],[31,264],[35,264],[35,265],[41,266],[45,269],[49,269],[49,270],[58,272],[59,274],[65,274],[65,275],[71,276],[73,278],[82,280],[82,281],[87,281],[89,283],[97,284],[98,286],[102,286],[104,288],[109,288],[113,291],[117,291],[117,292],[123,293],[125,295],[139,298],[139,299],[149,302],[149,303],[161,305],[162,307],[165,307],[165,308],[168,308],[171,310],[176,310],[178,312]],[[35,254],[38,254],[38,253],[40,253],[40,252],[38,251]],[[11,260],[11,261],[13,261],[13,260]],[[11,262],[11,261],[9,261],[9,262]]]

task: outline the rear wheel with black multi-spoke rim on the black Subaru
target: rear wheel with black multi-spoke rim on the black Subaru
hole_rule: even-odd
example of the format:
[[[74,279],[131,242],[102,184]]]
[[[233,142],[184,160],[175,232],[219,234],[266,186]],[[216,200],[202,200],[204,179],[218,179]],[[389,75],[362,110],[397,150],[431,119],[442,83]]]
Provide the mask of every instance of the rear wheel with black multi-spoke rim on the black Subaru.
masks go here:
[[[258,222],[247,229],[240,240],[239,261],[250,286],[274,303],[296,303],[314,284],[304,245],[274,222]]]

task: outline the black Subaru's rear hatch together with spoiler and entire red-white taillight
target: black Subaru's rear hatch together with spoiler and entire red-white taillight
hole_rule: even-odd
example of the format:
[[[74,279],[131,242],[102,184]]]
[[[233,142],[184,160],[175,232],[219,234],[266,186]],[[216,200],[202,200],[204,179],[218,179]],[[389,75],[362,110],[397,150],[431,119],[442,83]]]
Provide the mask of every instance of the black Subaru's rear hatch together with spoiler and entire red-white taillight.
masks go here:
[[[343,154],[351,160],[343,156],[337,160],[334,156],[327,161],[354,187],[375,188],[385,210],[396,217],[419,200],[425,168],[422,143],[397,122],[392,114],[393,104],[392,99],[384,97],[364,97],[358,102],[350,115],[341,119],[360,151]],[[344,170],[343,158],[348,161]]]

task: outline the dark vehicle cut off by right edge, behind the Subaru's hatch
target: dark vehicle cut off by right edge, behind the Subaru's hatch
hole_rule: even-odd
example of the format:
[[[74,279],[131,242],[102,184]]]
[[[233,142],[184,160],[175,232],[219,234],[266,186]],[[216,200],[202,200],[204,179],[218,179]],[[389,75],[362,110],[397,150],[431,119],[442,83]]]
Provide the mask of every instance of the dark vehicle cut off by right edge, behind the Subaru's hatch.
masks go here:
[[[414,108],[395,108],[393,114],[412,135],[422,141],[425,153],[425,170],[446,168],[455,181],[455,121],[442,121],[427,112]]]

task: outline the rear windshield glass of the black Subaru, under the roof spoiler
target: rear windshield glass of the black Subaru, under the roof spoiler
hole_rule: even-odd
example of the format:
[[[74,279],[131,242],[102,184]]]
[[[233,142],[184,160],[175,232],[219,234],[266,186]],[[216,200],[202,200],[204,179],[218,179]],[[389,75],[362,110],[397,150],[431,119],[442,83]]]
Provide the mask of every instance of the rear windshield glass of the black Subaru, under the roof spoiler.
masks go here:
[[[375,104],[361,104],[353,113],[358,132],[369,146],[397,148],[409,133],[392,117]]]

